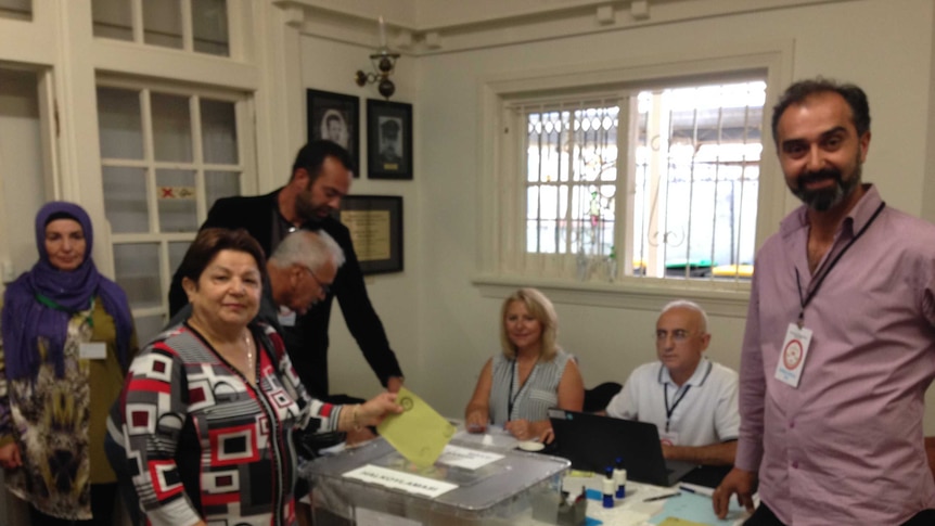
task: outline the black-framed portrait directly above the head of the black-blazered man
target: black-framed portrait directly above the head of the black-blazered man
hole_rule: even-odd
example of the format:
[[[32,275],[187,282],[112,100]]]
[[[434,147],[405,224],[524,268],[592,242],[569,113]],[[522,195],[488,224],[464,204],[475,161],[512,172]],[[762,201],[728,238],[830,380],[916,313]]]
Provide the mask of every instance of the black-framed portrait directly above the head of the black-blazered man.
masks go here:
[[[350,152],[354,177],[360,177],[360,99],[330,91],[305,90],[308,140],[328,139]]]

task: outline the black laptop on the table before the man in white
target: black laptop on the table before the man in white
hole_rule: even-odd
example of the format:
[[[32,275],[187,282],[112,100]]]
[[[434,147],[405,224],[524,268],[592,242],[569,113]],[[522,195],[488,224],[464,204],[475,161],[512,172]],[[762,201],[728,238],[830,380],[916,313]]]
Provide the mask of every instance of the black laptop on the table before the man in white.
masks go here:
[[[673,486],[695,464],[663,458],[659,432],[648,422],[550,409],[555,439],[542,452],[568,459],[575,470],[603,473],[623,460],[627,478]]]

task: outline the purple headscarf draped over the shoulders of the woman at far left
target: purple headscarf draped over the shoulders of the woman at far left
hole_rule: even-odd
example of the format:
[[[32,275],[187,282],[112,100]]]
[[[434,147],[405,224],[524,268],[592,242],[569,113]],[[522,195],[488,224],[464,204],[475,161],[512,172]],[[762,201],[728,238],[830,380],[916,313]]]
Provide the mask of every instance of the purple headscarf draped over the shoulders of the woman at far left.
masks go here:
[[[46,227],[50,220],[74,218],[85,232],[85,260],[77,269],[59,270],[46,252]],[[123,288],[98,273],[91,260],[94,232],[84,208],[63,201],[46,204],[36,215],[36,246],[39,260],[7,287],[3,302],[3,350],[8,379],[35,377],[39,371],[38,337],[49,342],[47,359],[55,374],[65,373],[64,346],[68,321],[100,296],[117,332],[117,356],[126,369],[133,323]],[[43,297],[42,302],[39,297]],[[52,305],[48,305],[51,300]]]

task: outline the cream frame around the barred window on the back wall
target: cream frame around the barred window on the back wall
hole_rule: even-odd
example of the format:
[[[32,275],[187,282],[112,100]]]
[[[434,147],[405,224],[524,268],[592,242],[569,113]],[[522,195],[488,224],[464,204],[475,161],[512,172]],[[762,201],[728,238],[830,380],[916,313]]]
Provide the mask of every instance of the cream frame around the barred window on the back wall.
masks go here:
[[[743,50],[743,51],[737,51]],[[657,310],[673,297],[702,302],[709,313],[743,317],[750,284],[743,281],[661,280],[623,277],[615,282],[576,281],[574,272],[554,272],[549,266],[567,265],[568,258],[538,258],[538,267],[525,265],[525,126],[513,131],[515,114],[511,101],[528,101],[567,95],[626,94],[628,87],[646,84],[670,85],[721,82],[748,78],[756,73],[766,78],[767,98],[763,112],[763,154],[757,197],[756,247],[773,233],[787,211],[785,182],[776,162],[771,140],[771,105],[779,92],[792,81],[793,42],[743,42],[731,50],[687,51],[679,56],[643,56],[613,64],[567,66],[548,70],[514,73],[483,79],[479,86],[481,184],[478,202],[478,269],[473,283],[482,294],[503,297],[516,286],[536,286],[554,300]],[[620,107],[620,123],[626,118]],[[513,131],[511,133],[511,131]],[[628,129],[618,128],[620,152],[626,147]],[[627,159],[632,164],[632,159]],[[616,246],[629,246],[628,208],[632,206],[632,182],[620,170],[616,218]],[[626,192],[626,193],[624,193]],[[630,243],[631,244],[631,243]],[[624,257],[619,251],[618,256]],[[537,259],[537,258],[533,258]]]

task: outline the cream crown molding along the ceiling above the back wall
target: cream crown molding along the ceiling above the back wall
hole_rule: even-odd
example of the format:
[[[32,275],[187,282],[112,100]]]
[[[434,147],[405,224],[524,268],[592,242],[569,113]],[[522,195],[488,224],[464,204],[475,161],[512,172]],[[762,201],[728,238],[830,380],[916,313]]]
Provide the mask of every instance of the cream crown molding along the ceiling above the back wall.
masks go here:
[[[857,0],[398,0],[388,7],[375,0],[273,0],[273,4],[304,10],[304,35],[368,49],[377,47],[381,10],[393,9],[393,16],[385,17],[389,41],[406,42],[401,36],[410,34],[412,44],[395,51],[418,56],[853,1]]]

